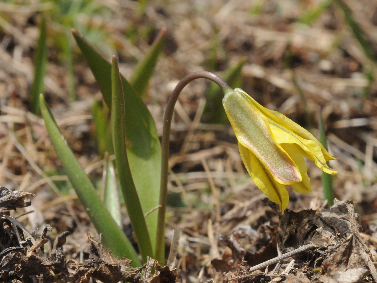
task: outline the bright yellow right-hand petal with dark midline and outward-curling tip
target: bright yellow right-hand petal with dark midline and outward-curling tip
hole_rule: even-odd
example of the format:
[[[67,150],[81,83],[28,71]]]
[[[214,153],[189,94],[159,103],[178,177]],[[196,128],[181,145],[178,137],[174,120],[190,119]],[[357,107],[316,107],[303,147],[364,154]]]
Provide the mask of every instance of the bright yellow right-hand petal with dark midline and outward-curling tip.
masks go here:
[[[313,140],[306,140],[305,138],[299,137],[295,133],[288,131],[288,129],[283,126],[277,125],[276,123],[270,123],[270,129],[274,140],[279,144],[290,143],[297,144],[304,152],[300,152],[305,157],[314,160],[316,165],[322,169],[322,171],[328,174],[336,174],[338,171],[329,168],[326,164],[325,157],[322,154],[321,148]],[[305,154],[306,153],[306,154]]]

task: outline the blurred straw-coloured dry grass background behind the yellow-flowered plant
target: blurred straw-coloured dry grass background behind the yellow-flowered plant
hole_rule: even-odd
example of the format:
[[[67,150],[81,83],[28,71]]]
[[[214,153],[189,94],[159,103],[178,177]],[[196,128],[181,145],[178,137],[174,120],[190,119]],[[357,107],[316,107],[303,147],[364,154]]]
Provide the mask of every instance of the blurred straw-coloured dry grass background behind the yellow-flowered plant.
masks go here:
[[[330,163],[339,170],[333,179],[335,197],[357,201],[362,226],[375,232],[377,1],[2,0],[0,185],[35,193],[28,208],[34,212],[19,220],[31,230],[49,223],[51,237],[74,231],[66,251],[84,257],[86,238],[79,236],[93,228],[43,120],[31,108],[31,95],[43,92],[70,147],[100,188],[104,148],[95,111],[105,110],[71,28],[107,60],[117,55],[127,79],[167,28],[144,94],[160,136],[162,114],[176,83],[200,70],[227,78],[316,137],[321,111],[329,152],[339,158]],[[197,275],[198,266],[208,263],[207,222],[216,207],[222,234],[246,223],[256,229],[252,223],[272,214],[242,164],[221,94],[205,80],[190,83],[179,97],[171,154],[167,233],[171,237],[176,226],[184,232],[180,276],[190,281],[190,272]],[[321,171],[312,161],[307,165],[313,192],[299,195],[288,188],[291,209],[325,205]],[[127,217],[123,224],[132,237]]]

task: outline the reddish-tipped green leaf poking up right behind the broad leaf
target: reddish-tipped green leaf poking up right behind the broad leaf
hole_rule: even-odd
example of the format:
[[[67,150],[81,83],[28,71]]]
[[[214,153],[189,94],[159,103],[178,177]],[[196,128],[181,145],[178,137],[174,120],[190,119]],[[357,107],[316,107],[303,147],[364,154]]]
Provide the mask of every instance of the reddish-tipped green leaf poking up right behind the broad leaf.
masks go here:
[[[144,60],[138,63],[132,77],[130,78],[131,85],[135,88],[136,92],[141,96],[141,98],[145,98],[146,96],[149,80],[153,75],[158,55],[161,53],[162,46],[164,45],[165,37],[166,28],[161,30],[158,37],[153,42],[150,51]]]

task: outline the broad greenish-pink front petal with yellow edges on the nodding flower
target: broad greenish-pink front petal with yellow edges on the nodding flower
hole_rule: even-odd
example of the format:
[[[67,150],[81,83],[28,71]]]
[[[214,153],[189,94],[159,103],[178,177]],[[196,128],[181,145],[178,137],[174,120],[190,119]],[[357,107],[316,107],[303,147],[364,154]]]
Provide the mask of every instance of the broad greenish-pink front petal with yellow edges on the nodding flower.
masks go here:
[[[229,91],[222,103],[239,143],[256,155],[276,181],[284,185],[301,181],[299,168],[274,142],[267,119],[245,95]]]

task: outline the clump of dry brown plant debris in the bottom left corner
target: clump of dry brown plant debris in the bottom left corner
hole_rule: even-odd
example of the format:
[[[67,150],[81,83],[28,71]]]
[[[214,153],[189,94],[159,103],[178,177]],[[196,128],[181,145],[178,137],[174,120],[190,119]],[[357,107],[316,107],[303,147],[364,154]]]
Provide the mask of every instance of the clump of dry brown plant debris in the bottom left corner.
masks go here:
[[[130,260],[114,258],[100,243],[91,237],[89,259],[78,263],[66,258],[62,246],[69,232],[63,232],[55,238],[51,254],[46,254],[43,246],[48,242],[46,234],[51,231],[47,225],[40,237],[30,233],[16,218],[9,215],[9,210],[23,208],[31,204],[25,199],[32,195],[22,191],[12,191],[0,187],[0,280],[2,282],[80,282],[90,278],[102,282],[116,283],[122,280],[139,282],[142,268],[132,268]],[[153,263],[152,263],[153,264]],[[13,280],[13,281],[12,281]]]

